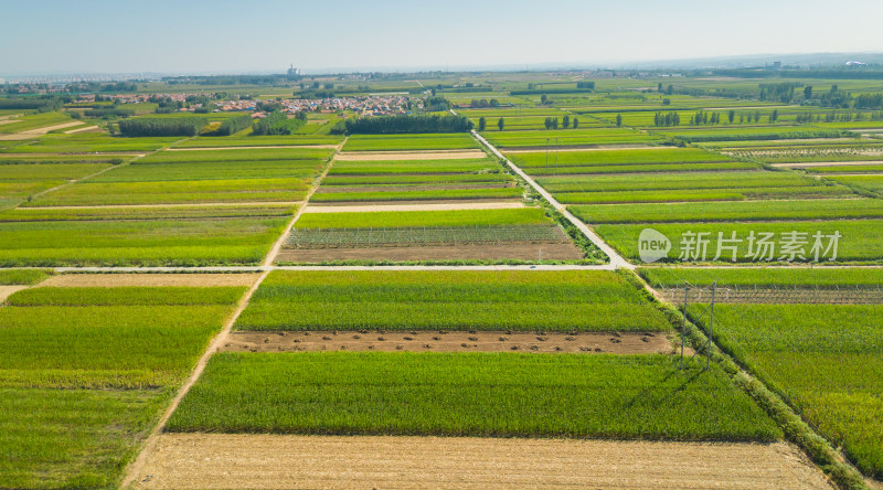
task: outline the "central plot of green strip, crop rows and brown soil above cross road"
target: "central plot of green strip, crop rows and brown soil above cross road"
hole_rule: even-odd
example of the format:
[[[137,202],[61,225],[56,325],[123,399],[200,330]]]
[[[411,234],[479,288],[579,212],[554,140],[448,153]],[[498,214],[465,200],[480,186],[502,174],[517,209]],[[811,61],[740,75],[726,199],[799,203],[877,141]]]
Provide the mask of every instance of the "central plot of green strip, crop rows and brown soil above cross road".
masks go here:
[[[520,192],[520,191],[519,191]],[[305,213],[279,263],[597,260],[539,207]]]

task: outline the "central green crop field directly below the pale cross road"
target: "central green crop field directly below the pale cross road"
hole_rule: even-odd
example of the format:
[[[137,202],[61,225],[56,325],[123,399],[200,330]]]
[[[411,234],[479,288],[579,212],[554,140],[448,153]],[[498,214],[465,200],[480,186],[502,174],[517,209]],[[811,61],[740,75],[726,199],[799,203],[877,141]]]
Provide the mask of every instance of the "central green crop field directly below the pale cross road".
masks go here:
[[[666,331],[662,315],[608,271],[275,271],[237,329]]]

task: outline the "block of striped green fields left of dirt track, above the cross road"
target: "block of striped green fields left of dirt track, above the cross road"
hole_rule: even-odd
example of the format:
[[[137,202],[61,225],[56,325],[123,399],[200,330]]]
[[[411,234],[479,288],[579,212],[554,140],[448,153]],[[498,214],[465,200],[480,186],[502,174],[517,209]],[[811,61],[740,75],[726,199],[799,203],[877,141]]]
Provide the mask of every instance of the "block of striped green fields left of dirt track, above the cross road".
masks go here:
[[[84,136],[68,137],[88,145],[117,141]],[[18,206],[0,212],[0,264],[258,264],[332,153],[294,147],[161,150],[113,160],[117,164],[100,162],[107,157],[95,162],[47,152],[9,157],[4,167],[15,172],[4,175],[4,199]],[[56,155],[63,162],[54,162]]]

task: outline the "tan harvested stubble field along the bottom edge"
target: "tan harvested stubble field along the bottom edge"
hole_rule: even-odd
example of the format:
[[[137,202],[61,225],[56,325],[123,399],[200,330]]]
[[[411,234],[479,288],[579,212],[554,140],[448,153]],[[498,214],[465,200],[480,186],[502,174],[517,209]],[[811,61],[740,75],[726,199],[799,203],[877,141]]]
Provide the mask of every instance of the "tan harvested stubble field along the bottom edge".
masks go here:
[[[831,489],[786,443],[163,434],[143,489]]]

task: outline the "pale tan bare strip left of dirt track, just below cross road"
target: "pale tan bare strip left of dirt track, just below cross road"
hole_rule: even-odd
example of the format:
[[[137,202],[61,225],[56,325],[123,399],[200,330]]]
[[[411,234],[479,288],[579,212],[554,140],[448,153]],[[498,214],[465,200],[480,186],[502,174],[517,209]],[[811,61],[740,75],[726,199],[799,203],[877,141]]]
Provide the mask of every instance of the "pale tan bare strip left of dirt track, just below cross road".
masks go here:
[[[124,287],[124,286],[252,286],[260,274],[64,274],[52,276],[39,286]]]

